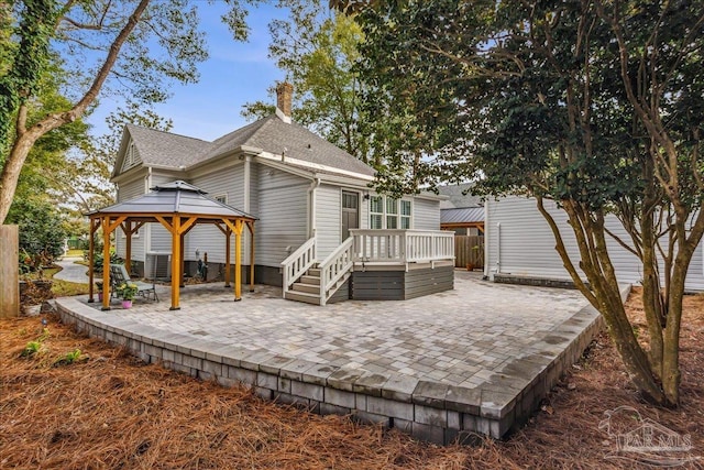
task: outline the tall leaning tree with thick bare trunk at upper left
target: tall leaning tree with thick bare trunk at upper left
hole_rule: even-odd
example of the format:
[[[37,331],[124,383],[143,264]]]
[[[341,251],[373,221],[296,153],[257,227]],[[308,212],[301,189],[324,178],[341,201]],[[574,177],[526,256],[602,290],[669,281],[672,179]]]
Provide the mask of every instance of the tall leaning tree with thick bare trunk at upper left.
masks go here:
[[[245,11],[234,0],[230,6],[223,21],[243,40]],[[197,4],[187,0],[24,0],[0,7],[0,41],[8,45],[0,55],[0,223],[37,140],[79,119],[101,91],[156,102],[168,96],[168,80],[198,78],[196,65],[207,52],[197,25]],[[73,78],[63,92],[70,101],[30,119],[30,103],[52,63]]]

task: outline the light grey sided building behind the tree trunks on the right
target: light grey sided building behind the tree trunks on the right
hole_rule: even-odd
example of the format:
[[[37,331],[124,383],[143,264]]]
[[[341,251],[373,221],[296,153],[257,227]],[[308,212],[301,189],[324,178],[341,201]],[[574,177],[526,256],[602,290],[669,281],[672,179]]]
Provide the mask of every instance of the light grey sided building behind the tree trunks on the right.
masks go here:
[[[569,280],[570,275],[554,249],[554,238],[548,222],[536,207],[536,200],[512,196],[485,201],[485,269],[484,273]],[[579,250],[566,214],[553,201],[546,201],[560,227],[570,258],[579,265]],[[607,217],[606,227],[624,242],[629,236],[613,216]],[[642,265],[639,260],[613,238],[607,237],[608,252],[622,283],[639,283]],[[692,256],[686,278],[688,291],[704,291],[704,248],[700,244]]]

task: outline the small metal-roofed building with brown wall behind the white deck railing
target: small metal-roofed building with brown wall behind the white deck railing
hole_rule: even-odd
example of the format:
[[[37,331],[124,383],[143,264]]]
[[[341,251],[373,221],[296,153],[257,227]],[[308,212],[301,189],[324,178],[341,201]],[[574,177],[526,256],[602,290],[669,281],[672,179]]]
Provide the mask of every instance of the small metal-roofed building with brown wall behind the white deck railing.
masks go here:
[[[484,234],[484,203],[472,195],[472,183],[441,186],[438,192],[448,199],[440,203],[440,229],[458,236]]]

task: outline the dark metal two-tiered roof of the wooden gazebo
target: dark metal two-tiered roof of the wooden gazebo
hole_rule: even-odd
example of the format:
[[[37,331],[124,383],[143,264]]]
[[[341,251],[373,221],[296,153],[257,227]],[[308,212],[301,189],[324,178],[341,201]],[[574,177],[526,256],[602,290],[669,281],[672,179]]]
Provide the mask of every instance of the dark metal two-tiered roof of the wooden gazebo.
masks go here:
[[[125,200],[89,215],[120,214],[145,217],[184,214],[193,216],[243,218],[256,220],[256,217],[235,209],[232,206],[210,199],[207,193],[183,181],[176,181],[152,188],[153,193]]]

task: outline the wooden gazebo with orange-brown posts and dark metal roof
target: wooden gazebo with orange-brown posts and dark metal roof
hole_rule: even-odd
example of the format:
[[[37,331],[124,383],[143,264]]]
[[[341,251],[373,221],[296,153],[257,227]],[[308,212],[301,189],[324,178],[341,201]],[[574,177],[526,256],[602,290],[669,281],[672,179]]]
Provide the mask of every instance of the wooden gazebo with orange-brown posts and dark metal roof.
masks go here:
[[[102,228],[102,309],[110,309],[110,234],[119,227],[125,234],[125,265],[131,265],[132,236],[147,222],[158,222],[172,234],[172,310],[179,307],[179,286],[184,275],[184,237],[198,223],[211,223],[224,234],[226,286],[230,284],[230,236],[235,234],[234,300],[242,298],[242,233],[252,234],[250,285],[254,285],[254,221],[256,218],[234,207],[206,197],[207,193],[183,181],[152,188],[152,193],[88,214],[90,217],[89,259],[92,266],[94,234]],[[129,267],[128,267],[129,269]],[[89,270],[89,299],[94,302],[94,272]]]

